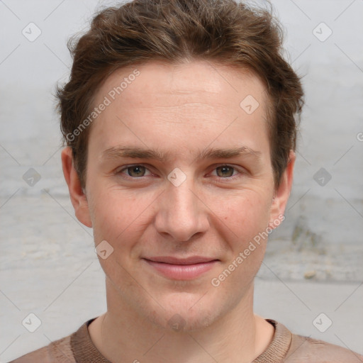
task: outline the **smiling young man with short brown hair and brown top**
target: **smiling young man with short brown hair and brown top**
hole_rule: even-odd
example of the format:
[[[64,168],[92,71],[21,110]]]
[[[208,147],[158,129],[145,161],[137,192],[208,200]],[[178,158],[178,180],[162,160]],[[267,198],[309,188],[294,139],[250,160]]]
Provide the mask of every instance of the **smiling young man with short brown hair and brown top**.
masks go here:
[[[280,51],[270,13],[233,0],[135,0],[94,18],[57,96],[107,311],[13,362],[363,362],[253,313],[303,105]]]

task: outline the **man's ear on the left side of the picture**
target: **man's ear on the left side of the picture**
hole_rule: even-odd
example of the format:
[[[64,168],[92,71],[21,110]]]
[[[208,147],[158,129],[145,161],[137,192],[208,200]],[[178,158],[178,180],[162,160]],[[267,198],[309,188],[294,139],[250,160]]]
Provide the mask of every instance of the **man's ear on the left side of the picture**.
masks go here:
[[[86,194],[84,194],[84,191],[82,190],[76,169],[74,169],[71,147],[65,147],[65,149],[62,150],[62,167],[75,215],[79,222],[91,228],[92,222],[89,213],[89,204]]]

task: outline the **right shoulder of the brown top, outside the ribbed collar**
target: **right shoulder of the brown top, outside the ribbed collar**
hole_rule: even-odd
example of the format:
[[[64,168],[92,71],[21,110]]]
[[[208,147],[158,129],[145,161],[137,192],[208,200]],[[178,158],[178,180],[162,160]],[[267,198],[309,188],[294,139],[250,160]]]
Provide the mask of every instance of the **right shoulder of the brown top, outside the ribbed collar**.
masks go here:
[[[363,355],[323,340],[291,334],[286,363],[363,363]]]

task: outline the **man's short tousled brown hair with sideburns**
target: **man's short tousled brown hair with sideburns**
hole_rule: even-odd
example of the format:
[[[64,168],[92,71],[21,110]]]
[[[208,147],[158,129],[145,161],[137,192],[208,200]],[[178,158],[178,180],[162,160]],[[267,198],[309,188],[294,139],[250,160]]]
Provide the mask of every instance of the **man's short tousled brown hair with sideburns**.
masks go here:
[[[57,86],[62,135],[72,147],[82,186],[89,127],[77,137],[74,130],[91,113],[102,82],[128,65],[186,59],[242,67],[264,81],[272,168],[279,186],[289,152],[296,148],[296,116],[303,106],[300,79],[281,54],[282,34],[271,9],[233,0],[133,0],[97,13],[87,33],[69,41],[72,72],[65,86]]]

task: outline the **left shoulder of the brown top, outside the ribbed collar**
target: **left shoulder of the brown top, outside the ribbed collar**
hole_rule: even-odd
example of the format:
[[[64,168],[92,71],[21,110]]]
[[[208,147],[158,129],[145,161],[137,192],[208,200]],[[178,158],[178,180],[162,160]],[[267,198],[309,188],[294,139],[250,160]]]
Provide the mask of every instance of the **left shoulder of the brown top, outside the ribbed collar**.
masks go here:
[[[76,363],[70,345],[71,336],[62,337],[50,345],[34,350],[9,363]]]

